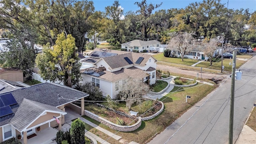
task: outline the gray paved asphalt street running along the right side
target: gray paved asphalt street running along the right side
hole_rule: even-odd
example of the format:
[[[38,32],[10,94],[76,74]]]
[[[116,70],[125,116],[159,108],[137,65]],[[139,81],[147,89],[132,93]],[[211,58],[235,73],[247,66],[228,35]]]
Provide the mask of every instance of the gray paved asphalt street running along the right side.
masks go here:
[[[240,67],[242,80],[235,81],[233,143],[256,102],[256,56]],[[226,144],[229,135],[231,78],[192,106],[148,144]]]

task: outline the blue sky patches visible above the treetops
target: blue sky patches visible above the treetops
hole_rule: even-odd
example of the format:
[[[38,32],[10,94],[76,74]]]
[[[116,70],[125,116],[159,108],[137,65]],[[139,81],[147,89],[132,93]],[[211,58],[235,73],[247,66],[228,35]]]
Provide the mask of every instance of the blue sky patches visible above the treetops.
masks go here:
[[[112,6],[114,0],[92,0],[94,2],[95,10],[105,12],[106,6]],[[135,2],[141,2],[142,0],[119,0],[120,6],[124,10],[124,14],[128,11],[139,10],[138,6],[135,5]],[[147,0],[147,3],[150,4],[160,4],[163,2],[162,6],[157,8],[156,10],[168,10],[170,8],[186,8],[190,3],[194,2],[202,2],[202,0]],[[228,2],[228,4],[227,4]],[[249,8],[249,12],[252,13],[256,11],[256,0],[221,0],[222,4],[225,4],[225,7],[231,9],[239,9],[240,8]]]

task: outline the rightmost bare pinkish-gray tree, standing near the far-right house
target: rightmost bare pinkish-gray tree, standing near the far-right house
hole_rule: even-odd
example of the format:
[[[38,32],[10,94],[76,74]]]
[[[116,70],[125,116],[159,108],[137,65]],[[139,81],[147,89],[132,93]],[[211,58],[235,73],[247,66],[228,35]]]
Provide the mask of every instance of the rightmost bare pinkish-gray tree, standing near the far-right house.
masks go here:
[[[210,66],[212,66],[212,61],[214,60],[214,51],[217,49],[219,43],[220,42],[216,38],[210,39],[209,42],[204,42],[204,54],[208,57],[208,60],[210,60]]]

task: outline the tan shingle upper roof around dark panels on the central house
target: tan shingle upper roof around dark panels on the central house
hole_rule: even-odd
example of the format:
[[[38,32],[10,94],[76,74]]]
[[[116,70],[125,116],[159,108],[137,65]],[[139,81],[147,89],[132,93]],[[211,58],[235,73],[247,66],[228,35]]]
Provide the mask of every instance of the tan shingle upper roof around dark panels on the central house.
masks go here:
[[[126,59],[125,59],[126,57],[131,60],[132,64],[135,64],[135,62],[138,60],[138,58],[142,57],[143,60],[140,62],[140,64],[138,64],[140,66],[145,66],[148,59],[153,58],[149,54],[129,52],[126,54],[120,54],[117,56],[110,56],[110,57],[102,58],[102,60],[104,60],[108,64],[108,66],[110,66],[111,69],[115,69],[115,68],[122,68],[124,66],[130,65],[126,61]],[[154,60],[156,61],[156,59],[154,59]],[[97,62],[95,64],[97,64]]]

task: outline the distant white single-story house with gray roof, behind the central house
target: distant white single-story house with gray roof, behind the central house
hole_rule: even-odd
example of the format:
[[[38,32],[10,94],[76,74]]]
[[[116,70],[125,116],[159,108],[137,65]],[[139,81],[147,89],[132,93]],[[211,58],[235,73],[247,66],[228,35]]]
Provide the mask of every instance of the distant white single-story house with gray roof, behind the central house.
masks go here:
[[[126,51],[138,50],[139,52],[143,50],[163,52],[164,48],[160,46],[162,45],[158,40],[132,40],[121,44],[121,48],[126,48]]]

